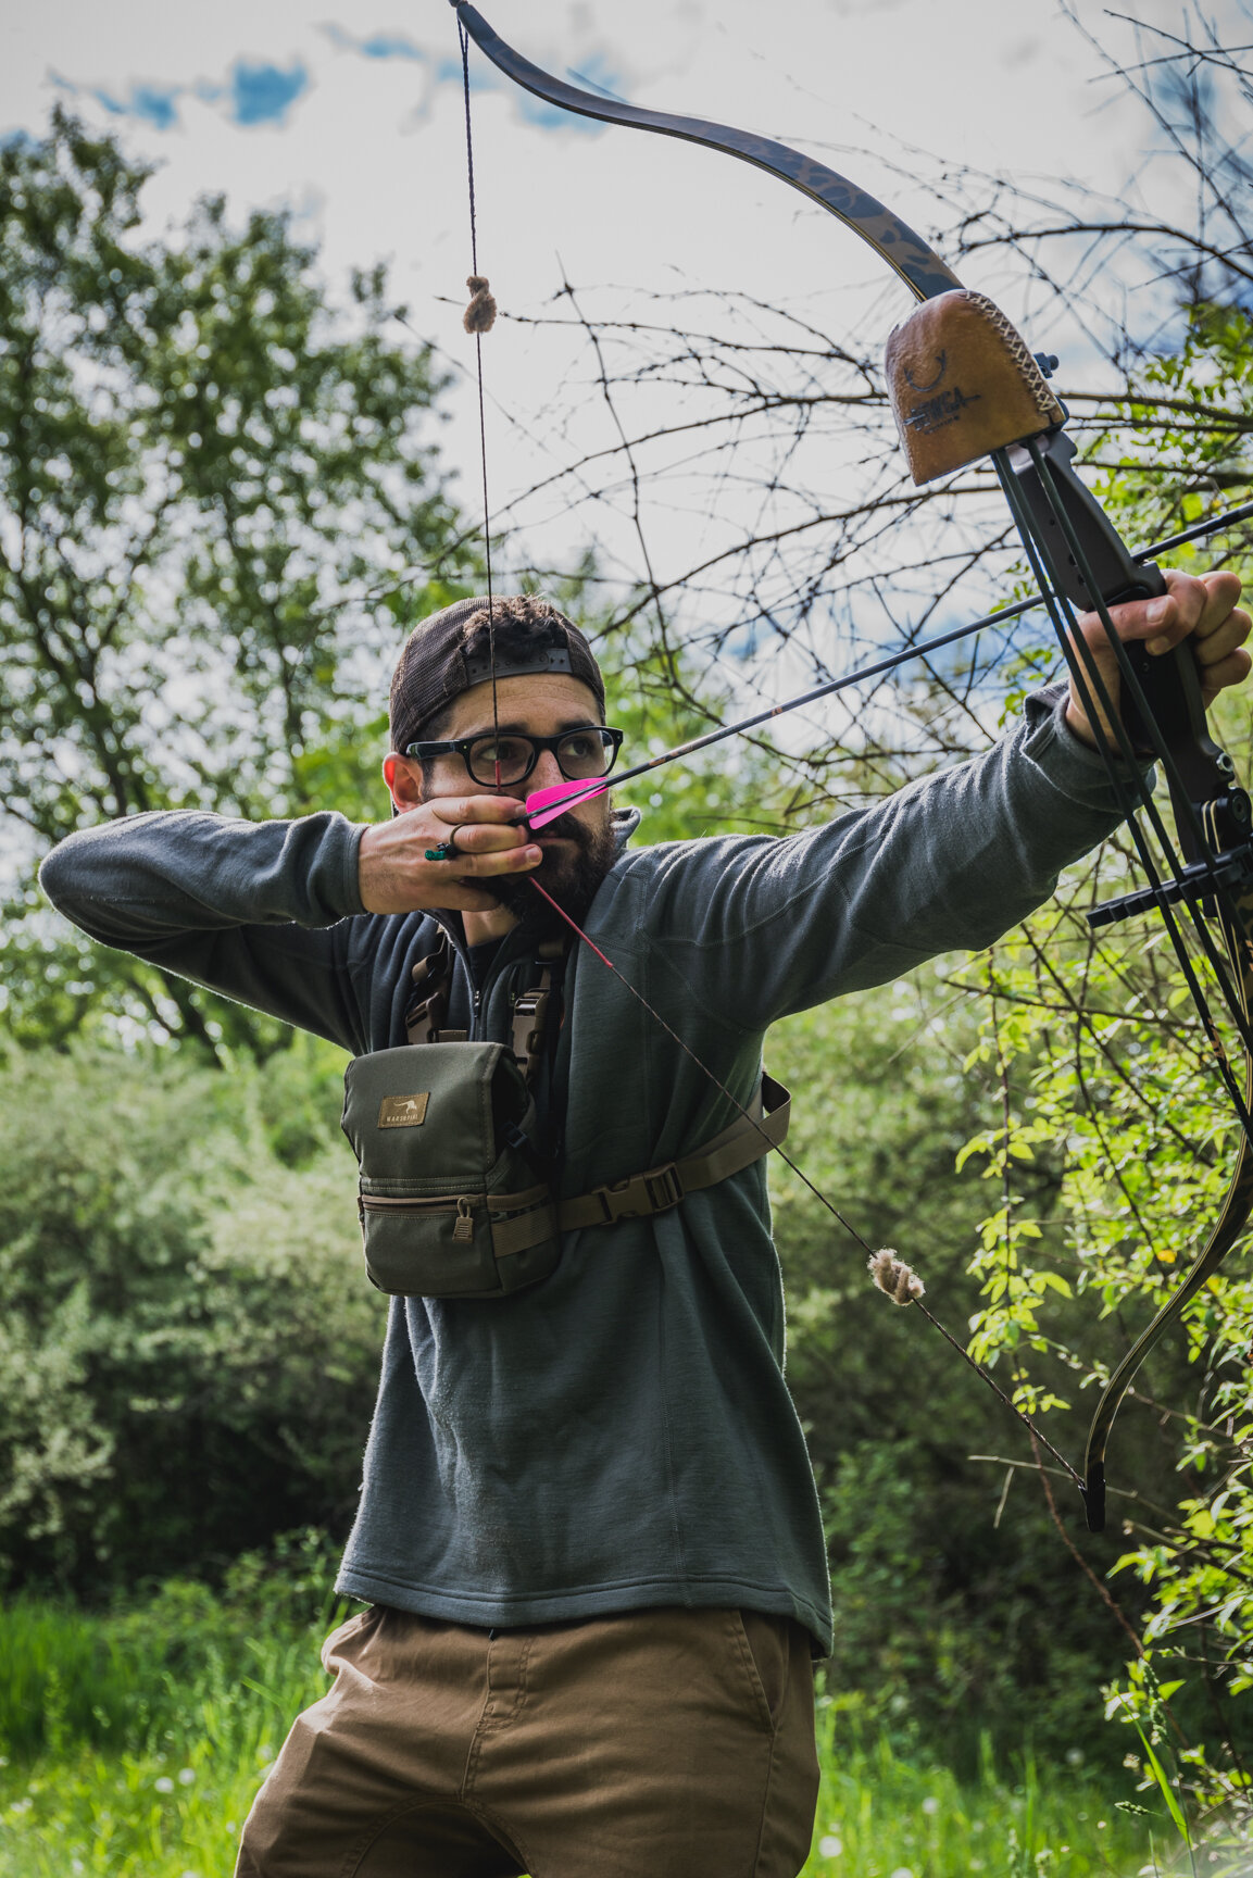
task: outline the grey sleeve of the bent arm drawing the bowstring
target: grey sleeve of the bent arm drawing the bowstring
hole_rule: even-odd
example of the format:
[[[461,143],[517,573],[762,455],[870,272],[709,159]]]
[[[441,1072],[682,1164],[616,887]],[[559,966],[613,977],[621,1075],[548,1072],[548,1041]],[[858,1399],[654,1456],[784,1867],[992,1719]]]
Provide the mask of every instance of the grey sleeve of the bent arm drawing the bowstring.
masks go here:
[[[92,939],[361,1050],[361,834],[334,813],[128,815],[54,847],[39,885]]]

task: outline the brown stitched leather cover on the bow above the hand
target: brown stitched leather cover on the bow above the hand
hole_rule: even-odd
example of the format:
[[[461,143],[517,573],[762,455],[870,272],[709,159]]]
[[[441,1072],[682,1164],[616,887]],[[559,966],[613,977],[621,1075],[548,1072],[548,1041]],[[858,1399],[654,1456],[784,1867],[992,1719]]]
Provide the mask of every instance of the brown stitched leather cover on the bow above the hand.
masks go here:
[[[924,300],[887,342],[887,383],[915,483],[1065,421],[1028,342],[982,293]]]

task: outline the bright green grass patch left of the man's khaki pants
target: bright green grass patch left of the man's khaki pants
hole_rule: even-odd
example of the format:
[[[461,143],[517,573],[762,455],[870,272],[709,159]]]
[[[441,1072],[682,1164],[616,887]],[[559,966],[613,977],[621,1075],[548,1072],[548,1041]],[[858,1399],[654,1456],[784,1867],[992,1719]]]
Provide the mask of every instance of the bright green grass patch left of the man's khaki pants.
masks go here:
[[[85,1615],[21,1596],[0,1621],[6,1878],[225,1872],[299,1709],[325,1692],[317,1639],[346,1613],[334,1549],[293,1532],[220,1593],[169,1579]]]

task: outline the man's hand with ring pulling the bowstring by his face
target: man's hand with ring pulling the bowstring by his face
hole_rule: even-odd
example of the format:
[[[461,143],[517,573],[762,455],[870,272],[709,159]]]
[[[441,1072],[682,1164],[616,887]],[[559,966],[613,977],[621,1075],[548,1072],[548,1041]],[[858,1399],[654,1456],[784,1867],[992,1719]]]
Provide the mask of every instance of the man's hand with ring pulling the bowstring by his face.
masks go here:
[[[357,851],[357,885],[366,913],[494,913],[500,901],[473,881],[530,873],[543,849],[518,826],[517,796],[436,796],[389,823],[374,823]],[[426,860],[456,830],[453,860]]]

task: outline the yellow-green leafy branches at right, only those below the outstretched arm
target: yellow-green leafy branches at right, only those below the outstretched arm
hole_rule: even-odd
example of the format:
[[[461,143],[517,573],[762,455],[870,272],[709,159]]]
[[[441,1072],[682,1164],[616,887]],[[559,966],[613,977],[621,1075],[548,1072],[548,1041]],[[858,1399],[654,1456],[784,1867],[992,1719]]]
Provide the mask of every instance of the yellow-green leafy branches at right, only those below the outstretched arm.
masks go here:
[[[1086,883],[1076,896],[1095,898]],[[1003,941],[988,971],[971,1059],[994,1069],[1003,1106],[999,1127],[969,1144],[996,1193],[971,1262],[982,1290],[971,1348],[1031,1412],[1075,1403],[1061,1446],[1078,1457],[1093,1386],[1219,1217],[1238,1129],[1159,935],[1097,947],[1054,909]],[[1232,1700],[1249,1686],[1253,1653],[1253,1288],[1238,1260],[1140,1371],[1106,1463],[1131,1546],[1105,1568],[1135,1574],[1148,1600],[1148,1653],[1110,1690],[1108,1713],[1153,1748],[1168,1741],[1206,1805],[1245,1792],[1249,1743],[1245,1705]],[[1182,1501],[1174,1470],[1193,1482]],[[1148,1743],[1146,1762],[1159,1786]]]

